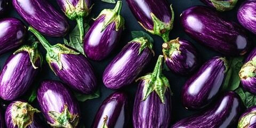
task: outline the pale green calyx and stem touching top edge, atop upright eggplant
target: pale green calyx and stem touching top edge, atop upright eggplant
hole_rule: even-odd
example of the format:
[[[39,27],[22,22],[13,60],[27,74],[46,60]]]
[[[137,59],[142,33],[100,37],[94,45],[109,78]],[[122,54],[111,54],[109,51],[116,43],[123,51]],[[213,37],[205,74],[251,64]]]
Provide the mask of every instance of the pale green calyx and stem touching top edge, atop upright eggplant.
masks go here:
[[[112,22],[116,23],[116,31],[121,29],[121,27],[124,29],[124,18],[120,15],[121,9],[122,9],[122,2],[117,1],[116,6],[113,10],[112,9],[105,9],[105,10],[102,10],[100,12],[99,16],[94,20],[97,20],[102,15],[105,15],[105,20],[104,20],[101,32],[103,30],[105,30],[105,28]]]

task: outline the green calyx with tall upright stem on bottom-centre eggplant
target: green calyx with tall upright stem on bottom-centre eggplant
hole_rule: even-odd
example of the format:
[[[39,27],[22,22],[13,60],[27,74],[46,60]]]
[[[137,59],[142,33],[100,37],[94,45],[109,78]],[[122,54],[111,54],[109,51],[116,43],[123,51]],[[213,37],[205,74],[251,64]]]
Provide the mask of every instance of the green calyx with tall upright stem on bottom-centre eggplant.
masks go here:
[[[136,80],[138,81],[139,79],[142,79],[145,81],[142,101],[145,101],[148,98],[148,95],[155,90],[162,103],[164,103],[164,93],[167,88],[170,89],[170,84],[168,79],[162,74],[163,58],[163,55],[159,55],[153,73],[142,76]]]

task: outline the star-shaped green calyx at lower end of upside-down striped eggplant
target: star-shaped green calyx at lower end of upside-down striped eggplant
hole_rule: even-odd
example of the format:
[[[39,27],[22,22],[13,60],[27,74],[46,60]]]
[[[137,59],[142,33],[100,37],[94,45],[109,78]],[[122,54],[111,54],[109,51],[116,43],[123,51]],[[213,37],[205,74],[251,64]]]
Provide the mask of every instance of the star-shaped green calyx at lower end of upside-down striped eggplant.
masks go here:
[[[65,104],[62,113],[56,111],[49,111],[48,115],[53,119],[54,123],[49,123],[52,127],[76,127],[79,121],[78,114],[71,114],[68,110],[68,106]]]

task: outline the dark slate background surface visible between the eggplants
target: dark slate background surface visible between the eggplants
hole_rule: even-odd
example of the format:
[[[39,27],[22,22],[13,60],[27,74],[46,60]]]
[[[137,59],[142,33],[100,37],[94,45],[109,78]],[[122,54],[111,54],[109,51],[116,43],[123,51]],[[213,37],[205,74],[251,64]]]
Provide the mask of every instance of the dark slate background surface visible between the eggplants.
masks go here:
[[[156,0],[157,1],[157,0]],[[86,127],[91,127],[91,124],[93,122],[93,118],[95,116],[95,114],[97,113],[98,108],[100,107],[101,103],[103,102],[103,100],[105,100],[109,94],[115,92],[113,90],[109,90],[105,87],[105,85],[102,82],[102,74],[103,71],[105,70],[106,66],[108,65],[108,63],[115,57],[116,54],[118,54],[121,50],[122,47],[124,47],[127,42],[130,42],[132,40],[132,36],[131,36],[131,31],[134,30],[143,30],[145,31],[137,22],[137,20],[133,17],[131,11],[129,10],[125,0],[122,0],[123,2],[123,8],[122,8],[122,12],[121,15],[124,17],[125,19],[125,30],[123,31],[123,35],[121,38],[121,41],[118,43],[118,46],[115,48],[115,50],[113,51],[113,53],[111,53],[109,55],[108,58],[99,61],[99,62],[94,62],[94,61],[90,61],[94,67],[95,73],[97,74],[97,82],[98,82],[98,86],[100,87],[101,90],[101,96],[100,98],[97,99],[92,99],[92,100],[87,100],[85,102],[79,102],[80,107],[81,107],[81,123],[85,124]],[[222,15],[224,15],[225,17],[235,21],[238,23],[237,21],[237,10],[239,8],[239,6],[241,5],[243,1],[239,0],[236,7],[228,12],[220,12]],[[63,14],[63,12],[60,10],[58,4],[56,3],[56,1],[51,1],[51,3],[54,5],[54,7],[56,7],[59,12],[61,12]],[[92,7],[92,11],[91,13],[93,13],[95,16],[98,16],[98,14],[101,12],[101,10],[103,9],[113,9],[115,7],[115,4],[109,4],[109,3],[105,3],[105,2],[101,2],[100,0],[92,0],[92,3],[94,4]],[[204,5],[203,3],[201,3],[199,0],[176,0],[176,1],[171,1],[168,0],[169,4],[172,4],[174,13],[175,13],[175,17],[174,17],[174,28],[170,33],[170,39],[175,39],[177,37],[180,37],[182,39],[187,39],[188,41],[192,42],[193,44],[195,44],[195,46],[198,49],[199,54],[201,55],[201,60],[202,63],[204,63],[206,60],[211,59],[212,57],[215,57],[217,55],[220,55],[219,53],[214,52],[213,50],[204,47],[198,43],[196,43],[195,41],[193,41],[193,39],[191,39],[190,37],[188,37],[184,31],[181,29],[180,26],[180,14],[183,10],[186,10],[188,7],[193,6],[193,5]],[[161,7],[158,7],[159,10],[161,10]],[[43,14],[42,14],[43,15]],[[64,14],[63,14],[64,15]],[[13,9],[12,7],[12,3],[9,4],[9,10],[8,10],[8,14],[6,15],[6,17],[16,17],[22,20],[22,18],[20,18],[19,14]],[[69,21],[69,25],[70,25],[70,30],[73,30],[73,28],[76,26],[76,22],[75,21]],[[23,23],[26,24],[25,21],[22,20]],[[91,24],[92,22],[90,22]],[[26,26],[28,26],[26,24]],[[31,33],[30,33],[31,34]],[[140,74],[140,76],[145,75],[148,72],[153,71],[154,66],[155,66],[155,62],[158,58],[158,55],[162,54],[162,43],[163,40],[161,37],[155,36],[155,35],[151,35],[151,37],[154,38],[154,51],[155,51],[155,57],[150,61],[149,66],[142,71],[142,73]],[[252,39],[252,41],[254,41],[255,36],[252,37],[253,35],[250,35]],[[68,37],[66,37],[68,38]],[[46,37],[46,39],[51,43],[51,44],[56,44],[56,43],[63,43],[63,38],[51,38],[51,37]],[[253,42],[254,45],[254,42]],[[43,57],[45,59],[45,50],[43,48],[43,46],[40,46],[40,51],[43,54]],[[10,51],[4,55],[2,55],[0,57],[0,67],[2,68],[4,65],[5,60],[7,59],[7,57],[9,57],[10,54],[12,54],[14,52]],[[182,76],[178,76],[175,75],[173,73],[171,73],[171,71],[163,71],[163,74],[169,79],[170,81],[170,86],[171,86],[171,90],[173,92],[173,97],[172,97],[172,121],[171,124],[177,122],[179,119],[182,119],[186,116],[192,115],[196,112],[192,112],[192,111],[188,111],[185,108],[182,107],[181,102],[180,102],[180,91],[181,88],[183,86],[183,84],[185,84],[186,80],[189,78],[189,76],[187,77],[182,77]],[[44,79],[56,79],[59,80],[58,77],[56,77],[54,75],[54,73],[51,71],[50,67],[47,65],[46,61],[44,60],[44,64],[42,67],[42,71],[39,74],[38,78],[36,79],[35,85],[38,85],[41,81],[43,81]],[[137,90],[137,85],[138,83],[132,83],[131,85],[125,87],[123,90],[127,91],[129,94],[129,97],[131,98],[131,100],[134,100],[134,96],[135,96],[135,92]],[[9,102],[3,101],[6,105]],[[40,109],[38,106],[37,101],[35,100],[33,102],[33,106],[35,106],[36,108]],[[132,108],[132,106],[131,106]],[[131,120],[132,118],[130,118]],[[167,122],[166,122],[167,123]],[[130,124],[128,127],[133,127],[132,126],[132,121],[130,121]]]

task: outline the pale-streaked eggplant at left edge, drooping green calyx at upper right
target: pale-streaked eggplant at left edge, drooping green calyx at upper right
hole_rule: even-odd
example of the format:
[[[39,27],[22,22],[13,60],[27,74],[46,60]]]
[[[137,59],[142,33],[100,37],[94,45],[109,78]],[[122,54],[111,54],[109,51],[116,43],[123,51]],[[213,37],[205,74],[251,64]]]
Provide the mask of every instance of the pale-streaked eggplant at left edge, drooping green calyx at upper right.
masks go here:
[[[0,73],[0,97],[14,100],[26,93],[42,66],[38,43],[23,45],[4,63]]]

